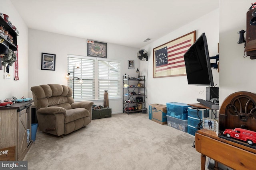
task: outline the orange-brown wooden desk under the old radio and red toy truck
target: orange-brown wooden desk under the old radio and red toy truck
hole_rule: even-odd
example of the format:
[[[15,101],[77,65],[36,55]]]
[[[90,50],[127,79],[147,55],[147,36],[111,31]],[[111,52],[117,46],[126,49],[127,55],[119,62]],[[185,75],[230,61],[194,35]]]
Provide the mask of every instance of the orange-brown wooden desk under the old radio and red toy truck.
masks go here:
[[[219,138],[214,131],[201,129],[195,134],[196,150],[201,153],[201,170],[205,169],[205,156],[235,170],[255,170],[256,150]]]

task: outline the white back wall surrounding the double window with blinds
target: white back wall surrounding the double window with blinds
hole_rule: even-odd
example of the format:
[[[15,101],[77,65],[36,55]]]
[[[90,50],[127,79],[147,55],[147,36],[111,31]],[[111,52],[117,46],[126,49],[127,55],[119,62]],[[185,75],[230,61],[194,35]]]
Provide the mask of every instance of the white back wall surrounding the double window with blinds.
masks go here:
[[[97,41],[100,41],[97,39]],[[41,84],[64,84],[67,85],[67,55],[86,56],[86,39],[39,31],[36,29],[28,30],[29,42],[29,72],[28,88]],[[107,42],[106,42],[107,43]],[[136,69],[128,69],[128,60],[134,60],[135,68],[139,68],[137,59],[137,48],[124,47],[121,45],[107,43],[107,58],[121,61],[121,80],[122,75],[136,76]],[[41,70],[41,53],[56,54],[56,69]],[[122,82],[120,88],[122,90]],[[122,92],[121,92],[122,94]],[[32,92],[29,91],[29,97]],[[109,106],[112,113],[122,113],[122,96],[119,100],[110,100]],[[103,106],[103,100],[94,101],[96,105]]]

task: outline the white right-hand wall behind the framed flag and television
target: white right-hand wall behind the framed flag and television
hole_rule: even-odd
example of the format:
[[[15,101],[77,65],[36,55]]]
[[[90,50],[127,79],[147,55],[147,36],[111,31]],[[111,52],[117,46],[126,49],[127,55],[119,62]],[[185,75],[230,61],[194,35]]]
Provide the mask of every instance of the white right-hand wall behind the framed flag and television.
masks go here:
[[[209,54],[215,56],[218,54],[219,42],[219,10],[214,10],[198,20],[192,21],[176,31],[155,40],[151,44],[143,47],[149,52],[148,65],[146,61],[140,63],[140,70],[142,74],[148,74],[148,104],[166,102],[180,102],[186,104],[197,103],[196,99],[201,98],[206,100],[206,93],[204,86],[188,85],[186,76],[174,76],[165,78],[153,78],[153,49],[176,39],[182,35],[196,30],[196,39],[202,34],[206,33]],[[215,61],[211,61],[214,63]],[[214,84],[219,86],[219,73],[217,69],[213,69]]]

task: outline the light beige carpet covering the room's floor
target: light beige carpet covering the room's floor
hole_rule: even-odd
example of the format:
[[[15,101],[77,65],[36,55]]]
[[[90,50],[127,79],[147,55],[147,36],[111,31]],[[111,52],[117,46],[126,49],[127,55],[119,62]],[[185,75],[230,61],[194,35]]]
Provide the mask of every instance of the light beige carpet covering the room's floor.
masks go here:
[[[114,114],[64,138],[38,131],[29,170],[200,170],[194,136],[148,119]]]

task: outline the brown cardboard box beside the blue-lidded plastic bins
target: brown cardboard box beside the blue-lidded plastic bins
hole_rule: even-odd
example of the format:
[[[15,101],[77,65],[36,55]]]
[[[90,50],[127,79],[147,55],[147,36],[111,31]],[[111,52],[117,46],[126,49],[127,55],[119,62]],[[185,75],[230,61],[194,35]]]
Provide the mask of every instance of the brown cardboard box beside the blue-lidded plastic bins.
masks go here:
[[[164,125],[167,123],[167,109],[166,105],[163,104],[151,104],[149,105],[148,118],[152,121]]]

